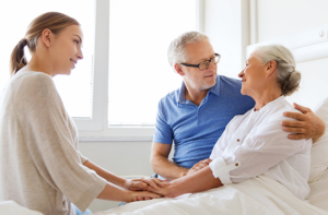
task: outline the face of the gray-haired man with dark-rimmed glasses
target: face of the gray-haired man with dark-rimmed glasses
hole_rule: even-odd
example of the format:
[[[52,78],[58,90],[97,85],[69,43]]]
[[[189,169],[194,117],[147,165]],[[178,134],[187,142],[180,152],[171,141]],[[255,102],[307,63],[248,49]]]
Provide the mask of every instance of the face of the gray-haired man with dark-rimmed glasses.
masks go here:
[[[199,64],[204,60],[210,60],[214,57],[214,50],[208,40],[196,41],[186,45],[186,56],[188,58],[188,64]],[[216,77],[216,64],[210,63],[206,70],[199,70],[199,68],[180,65],[184,81],[187,85],[197,91],[208,89],[215,85]]]

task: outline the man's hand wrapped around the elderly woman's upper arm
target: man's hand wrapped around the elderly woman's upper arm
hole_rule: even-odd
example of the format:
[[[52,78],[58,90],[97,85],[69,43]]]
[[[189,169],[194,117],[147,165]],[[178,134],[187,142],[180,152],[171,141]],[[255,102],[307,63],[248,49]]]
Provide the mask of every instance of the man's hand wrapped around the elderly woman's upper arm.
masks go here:
[[[291,140],[313,139],[315,143],[325,133],[325,122],[320,120],[309,108],[294,103],[295,109],[301,112],[284,112],[283,116],[297,119],[298,121],[282,121],[283,130],[295,133],[289,134]]]

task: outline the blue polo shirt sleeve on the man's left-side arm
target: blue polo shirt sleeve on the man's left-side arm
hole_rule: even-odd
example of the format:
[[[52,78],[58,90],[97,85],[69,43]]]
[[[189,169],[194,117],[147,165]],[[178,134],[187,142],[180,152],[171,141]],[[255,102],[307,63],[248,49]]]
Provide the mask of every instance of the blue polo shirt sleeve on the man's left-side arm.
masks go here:
[[[163,104],[163,99],[161,99],[159,103],[153,142],[172,144],[174,134],[171,126],[167,123],[167,120],[164,117],[164,111],[165,106]]]

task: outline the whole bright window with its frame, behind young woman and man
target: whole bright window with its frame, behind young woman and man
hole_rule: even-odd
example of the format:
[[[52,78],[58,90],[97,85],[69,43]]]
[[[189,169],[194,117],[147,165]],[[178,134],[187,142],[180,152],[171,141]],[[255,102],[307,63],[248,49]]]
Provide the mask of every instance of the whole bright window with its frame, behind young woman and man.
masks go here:
[[[140,126],[154,124],[160,98],[181,84],[166,51],[179,34],[201,31],[202,1],[3,1],[0,88],[9,79],[10,53],[32,20],[48,11],[66,13],[81,23],[84,34],[84,59],[70,76],[54,79],[68,112],[84,133],[125,135],[119,129],[132,126],[129,133],[138,135]]]

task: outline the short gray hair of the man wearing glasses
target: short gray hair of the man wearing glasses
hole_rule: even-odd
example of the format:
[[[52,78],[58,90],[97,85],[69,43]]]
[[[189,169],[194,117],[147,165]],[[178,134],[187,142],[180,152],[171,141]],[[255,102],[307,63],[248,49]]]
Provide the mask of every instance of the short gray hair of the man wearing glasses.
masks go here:
[[[209,37],[199,32],[187,32],[174,39],[167,49],[167,59],[171,67],[175,63],[186,62],[188,59],[185,47],[195,41],[210,40]]]

